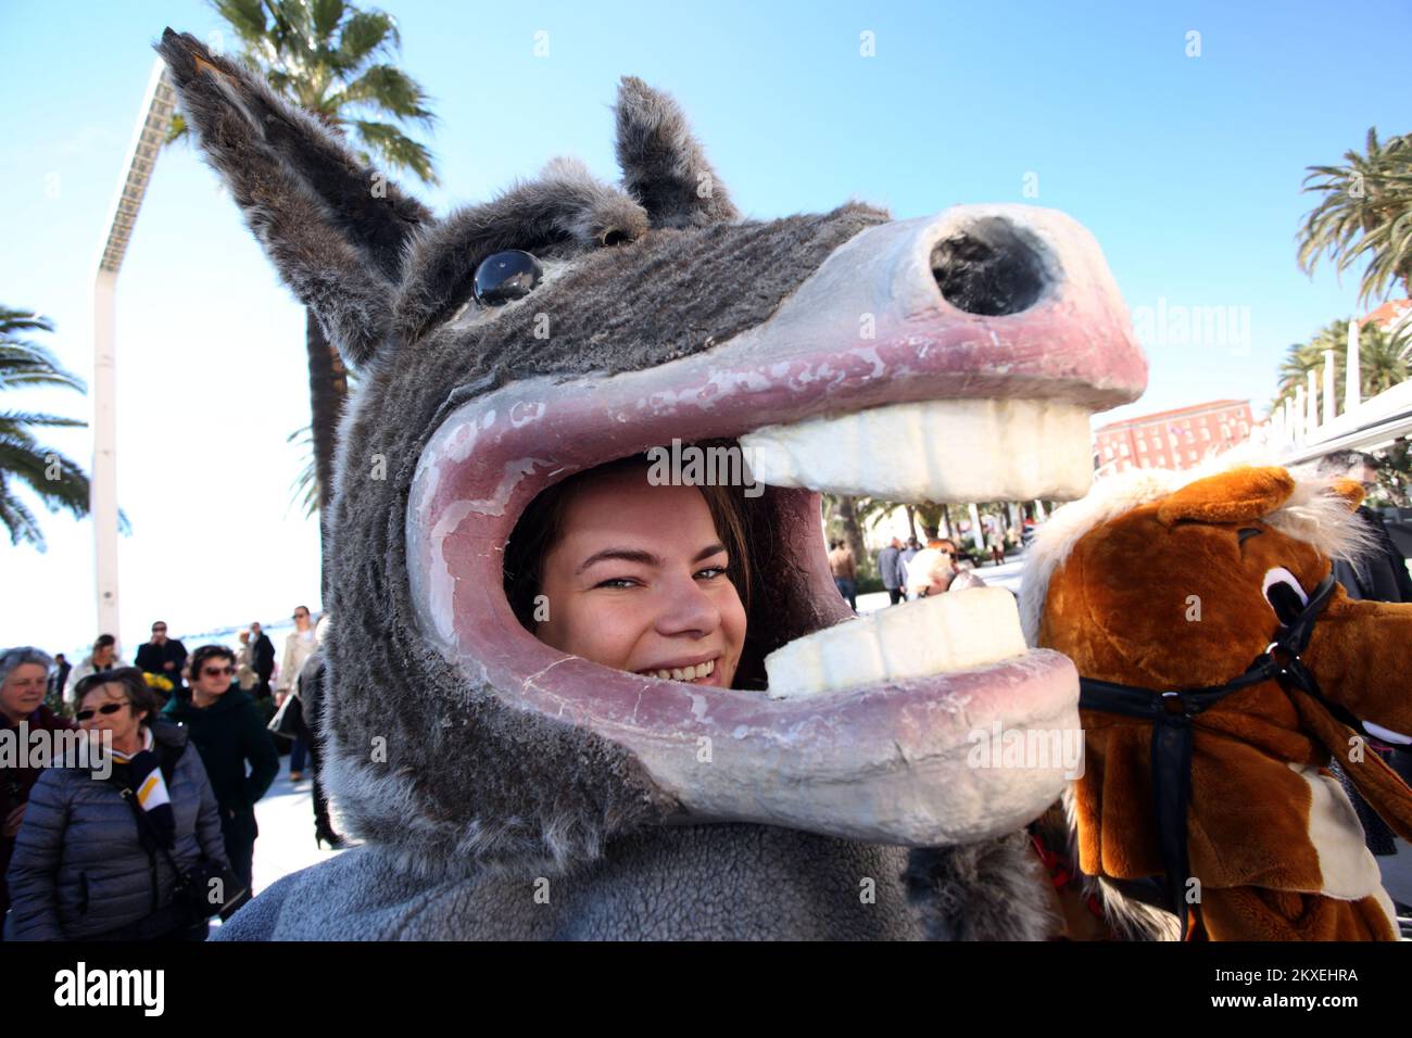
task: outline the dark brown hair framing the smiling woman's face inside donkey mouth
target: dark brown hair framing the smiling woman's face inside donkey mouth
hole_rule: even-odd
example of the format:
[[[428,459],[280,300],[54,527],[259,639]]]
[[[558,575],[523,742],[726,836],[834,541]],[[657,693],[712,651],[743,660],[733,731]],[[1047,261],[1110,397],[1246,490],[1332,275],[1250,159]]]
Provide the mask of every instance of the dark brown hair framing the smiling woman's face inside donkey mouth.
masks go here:
[[[544,561],[563,535],[563,515],[573,494],[594,476],[641,469],[645,477],[650,466],[651,460],[642,453],[576,472],[544,490],[525,508],[505,544],[501,572],[510,609],[527,631],[532,634],[535,630],[535,596],[539,595],[539,587],[544,583]],[[740,602],[746,607],[746,616],[750,616],[750,538],[744,506],[738,500],[738,487],[696,486],[696,489],[706,499],[712,523],[716,525],[716,535],[720,537],[722,544],[726,545],[726,554],[730,556],[726,576],[736,585]]]

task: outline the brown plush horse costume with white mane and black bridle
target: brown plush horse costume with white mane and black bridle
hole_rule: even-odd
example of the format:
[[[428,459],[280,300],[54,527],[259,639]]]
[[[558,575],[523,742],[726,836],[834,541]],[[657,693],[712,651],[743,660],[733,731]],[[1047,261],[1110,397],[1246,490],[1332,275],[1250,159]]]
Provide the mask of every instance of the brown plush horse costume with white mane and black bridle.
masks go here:
[[[1332,556],[1364,547],[1357,483],[1281,467],[1180,480],[1115,477],[1055,514],[1022,593],[1034,644],[1090,679],[1154,692],[1223,686],[1305,612]],[[1324,702],[1264,679],[1192,716],[1189,877],[1178,893],[1195,936],[1395,936],[1377,863],[1326,765],[1337,758],[1395,830],[1412,832],[1412,791],[1334,716],[1389,739],[1412,732],[1412,604],[1354,602],[1333,586],[1299,658]],[[1084,710],[1083,723],[1080,867],[1162,876],[1152,722]]]

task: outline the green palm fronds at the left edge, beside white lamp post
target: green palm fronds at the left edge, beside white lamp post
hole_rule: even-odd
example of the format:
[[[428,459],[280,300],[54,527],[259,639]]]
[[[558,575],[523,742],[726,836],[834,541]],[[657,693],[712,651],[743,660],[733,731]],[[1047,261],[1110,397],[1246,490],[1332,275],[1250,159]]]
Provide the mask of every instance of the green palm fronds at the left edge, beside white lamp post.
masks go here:
[[[30,342],[28,332],[54,332],[54,322],[25,309],[0,305],[0,390],[61,386],[85,391],[83,380],[69,374],[54,356]],[[89,480],[83,470],[34,436],[35,428],[72,429],[88,422],[78,418],[0,410],[0,523],[10,542],[45,549],[44,534],[34,513],[17,496],[16,483],[25,483],[49,511],[68,508],[75,518],[89,514]]]

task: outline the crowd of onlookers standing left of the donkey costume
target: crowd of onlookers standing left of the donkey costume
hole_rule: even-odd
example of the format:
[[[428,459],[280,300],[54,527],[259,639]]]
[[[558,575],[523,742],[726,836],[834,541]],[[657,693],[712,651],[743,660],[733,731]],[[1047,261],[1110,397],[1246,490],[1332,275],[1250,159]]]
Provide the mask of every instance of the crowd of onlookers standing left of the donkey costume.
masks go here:
[[[256,804],[278,775],[277,740],[292,744],[291,780],[312,763],[319,845],[343,846],[319,781],[328,617],[315,626],[299,606],[294,623],[278,668],[258,623],[239,650],[188,654],[158,620],[136,665],[110,634],[78,665],[28,645],[0,654],[7,739],[82,733],[112,750],[106,765],[90,753],[4,767],[4,939],[203,941],[209,919],[251,895]]]

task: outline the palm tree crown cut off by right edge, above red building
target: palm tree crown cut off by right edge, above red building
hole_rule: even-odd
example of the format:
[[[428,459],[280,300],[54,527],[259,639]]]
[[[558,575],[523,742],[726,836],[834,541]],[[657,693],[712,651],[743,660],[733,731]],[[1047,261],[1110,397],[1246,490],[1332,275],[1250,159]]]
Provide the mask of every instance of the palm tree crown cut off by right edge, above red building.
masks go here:
[[[1322,256],[1341,274],[1367,258],[1360,302],[1382,298],[1401,281],[1412,294],[1412,134],[1378,141],[1368,130],[1367,154],[1346,151],[1346,165],[1312,165],[1305,191],[1323,201],[1305,215],[1298,234],[1299,267],[1313,274]]]

